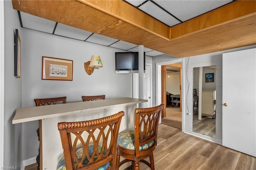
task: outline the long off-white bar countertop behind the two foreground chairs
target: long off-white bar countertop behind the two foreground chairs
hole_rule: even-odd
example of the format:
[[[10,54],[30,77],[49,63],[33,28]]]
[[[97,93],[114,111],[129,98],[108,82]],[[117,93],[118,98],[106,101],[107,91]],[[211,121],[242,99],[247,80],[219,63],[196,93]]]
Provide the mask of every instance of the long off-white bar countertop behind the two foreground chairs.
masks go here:
[[[105,99],[97,101],[82,101],[74,103],[64,103],[58,105],[46,105],[37,107],[24,107],[16,110],[12,119],[12,124],[48,119],[64,115],[77,114],[97,109],[105,109],[116,105],[131,105],[147,102],[144,99],[135,99],[130,97]]]

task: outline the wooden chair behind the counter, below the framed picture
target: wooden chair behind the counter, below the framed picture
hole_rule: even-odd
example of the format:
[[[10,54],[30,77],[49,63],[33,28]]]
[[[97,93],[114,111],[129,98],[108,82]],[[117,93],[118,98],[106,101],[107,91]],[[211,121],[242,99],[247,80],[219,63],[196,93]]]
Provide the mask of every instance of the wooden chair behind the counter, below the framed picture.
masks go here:
[[[54,98],[34,99],[34,102],[36,103],[36,106],[56,105],[56,104],[66,103],[66,98],[67,97],[54,97]],[[36,132],[37,132],[38,140],[40,141],[40,129],[38,128],[36,130]],[[38,156],[36,156],[36,163],[38,164],[37,169],[40,170],[40,149],[39,149]]]

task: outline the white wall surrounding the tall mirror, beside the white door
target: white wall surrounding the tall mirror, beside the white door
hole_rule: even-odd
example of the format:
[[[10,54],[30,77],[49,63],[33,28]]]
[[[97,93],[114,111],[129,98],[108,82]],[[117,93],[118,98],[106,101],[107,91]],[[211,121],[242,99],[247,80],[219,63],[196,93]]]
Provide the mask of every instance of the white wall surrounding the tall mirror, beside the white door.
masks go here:
[[[222,144],[222,53],[250,49],[253,47],[255,47],[255,45],[184,58],[184,93],[185,96],[187,96],[187,98],[183,100],[185,108],[183,110],[184,132]],[[214,75],[214,81],[216,81],[216,138],[193,132],[193,114],[187,115],[187,113],[193,113],[193,68],[209,65],[216,65],[216,74]]]

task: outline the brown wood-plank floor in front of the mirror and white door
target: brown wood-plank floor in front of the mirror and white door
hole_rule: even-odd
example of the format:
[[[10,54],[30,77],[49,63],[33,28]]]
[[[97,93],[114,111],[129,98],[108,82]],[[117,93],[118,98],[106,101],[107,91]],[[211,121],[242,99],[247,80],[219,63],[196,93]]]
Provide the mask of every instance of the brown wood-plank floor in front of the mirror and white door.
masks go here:
[[[255,157],[164,124],[158,127],[154,162],[155,170],[256,170]],[[127,167],[124,166],[120,170]],[[140,162],[140,170],[150,168]]]

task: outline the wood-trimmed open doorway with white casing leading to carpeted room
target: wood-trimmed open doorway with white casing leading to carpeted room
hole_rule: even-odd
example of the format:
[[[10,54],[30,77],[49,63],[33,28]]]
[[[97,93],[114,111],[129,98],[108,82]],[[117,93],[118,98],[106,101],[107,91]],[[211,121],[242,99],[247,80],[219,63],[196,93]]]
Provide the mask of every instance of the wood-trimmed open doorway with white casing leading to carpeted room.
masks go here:
[[[156,63],[156,79],[158,82],[156,91],[157,103],[165,104],[161,122],[180,129],[183,128],[182,123],[184,122],[182,113],[183,62],[184,59],[175,59]]]

